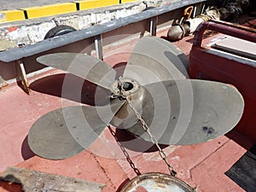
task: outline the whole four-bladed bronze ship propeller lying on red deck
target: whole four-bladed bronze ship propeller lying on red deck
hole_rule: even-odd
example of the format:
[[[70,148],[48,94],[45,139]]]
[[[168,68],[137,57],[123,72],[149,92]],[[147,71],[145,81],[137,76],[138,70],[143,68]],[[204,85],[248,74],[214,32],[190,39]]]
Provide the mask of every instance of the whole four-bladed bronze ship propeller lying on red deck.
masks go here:
[[[30,148],[52,160],[88,148],[108,124],[150,142],[141,117],[158,143],[189,145],[224,135],[243,112],[242,96],[234,86],[188,79],[185,56],[161,38],[141,38],[119,79],[112,67],[90,55],[56,53],[37,61],[109,90],[106,106],[59,108],[32,125]]]

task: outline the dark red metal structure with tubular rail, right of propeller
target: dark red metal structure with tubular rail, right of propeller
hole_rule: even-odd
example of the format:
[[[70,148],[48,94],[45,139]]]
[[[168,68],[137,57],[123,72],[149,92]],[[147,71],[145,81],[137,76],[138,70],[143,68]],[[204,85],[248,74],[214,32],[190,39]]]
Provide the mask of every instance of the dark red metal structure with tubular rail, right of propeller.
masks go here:
[[[198,26],[189,54],[191,79],[207,79],[233,84],[241,92],[245,110],[236,130],[256,142],[256,62],[238,52],[231,53],[202,45],[206,30],[220,32],[235,38],[256,43],[256,30],[224,21],[209,20]],[[240,44],[236,44],[237,48]]]

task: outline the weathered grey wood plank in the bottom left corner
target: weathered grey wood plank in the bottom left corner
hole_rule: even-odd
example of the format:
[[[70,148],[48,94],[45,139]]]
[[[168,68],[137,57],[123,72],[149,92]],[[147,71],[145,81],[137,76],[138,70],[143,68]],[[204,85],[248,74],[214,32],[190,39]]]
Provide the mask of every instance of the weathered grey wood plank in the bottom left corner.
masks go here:
[[[104,187],[102,183],[18,167],[8,167],[0,180],[20,183],[26,192],[100,192]]]

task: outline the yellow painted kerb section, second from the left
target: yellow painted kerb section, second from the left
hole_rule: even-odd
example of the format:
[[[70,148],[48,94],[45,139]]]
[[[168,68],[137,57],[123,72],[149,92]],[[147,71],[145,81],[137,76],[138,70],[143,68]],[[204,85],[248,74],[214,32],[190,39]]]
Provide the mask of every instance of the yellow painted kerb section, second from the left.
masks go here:
[[[26,8],[28,19],[45,17],[51,15],[61,15],[77,11],[76,3],[60,3],[45,5],[42,7]]]

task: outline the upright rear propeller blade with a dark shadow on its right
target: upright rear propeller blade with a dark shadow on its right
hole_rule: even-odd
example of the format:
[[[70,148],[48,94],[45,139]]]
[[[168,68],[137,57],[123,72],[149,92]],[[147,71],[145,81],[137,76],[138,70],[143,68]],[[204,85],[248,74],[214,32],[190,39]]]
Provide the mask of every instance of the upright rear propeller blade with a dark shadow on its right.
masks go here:
[[[154,49],[148,49],[150,47]],[[169,79],[186,79],[187,72],[188,61],[180,49],[162,38],[144,37],[132,50],[124,78],[149,84]]]

